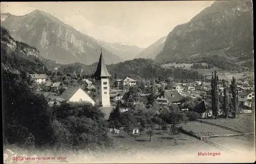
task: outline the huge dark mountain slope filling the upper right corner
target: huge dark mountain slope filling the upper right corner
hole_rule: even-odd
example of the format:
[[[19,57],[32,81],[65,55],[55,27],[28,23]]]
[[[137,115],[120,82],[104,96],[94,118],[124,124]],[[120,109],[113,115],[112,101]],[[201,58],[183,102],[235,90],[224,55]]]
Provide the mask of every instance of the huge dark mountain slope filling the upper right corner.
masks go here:
[[[193,19],[178,25],[167,36],[158,62],[188,58],[234,47],[246,41],[246,56],[253,56],[253,15],[251,1],[216,1]],[[224,51],[224,52],[225,52]],[[227,52],[228,53],[228,52]],[[233,57],[230,54],[230,57]],[[236,61],[236,60],[234,60]]]

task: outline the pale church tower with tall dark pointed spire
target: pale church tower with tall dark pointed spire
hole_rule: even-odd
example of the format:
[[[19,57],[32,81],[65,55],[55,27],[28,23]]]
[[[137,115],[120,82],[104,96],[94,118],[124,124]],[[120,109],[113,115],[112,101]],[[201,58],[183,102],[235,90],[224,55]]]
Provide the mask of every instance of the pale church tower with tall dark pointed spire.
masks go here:
[[[100,49],[99,63],[94,74],[96,86],[96,104],[102,107],[110,107],[110,73],[106,69],[106,65]]]

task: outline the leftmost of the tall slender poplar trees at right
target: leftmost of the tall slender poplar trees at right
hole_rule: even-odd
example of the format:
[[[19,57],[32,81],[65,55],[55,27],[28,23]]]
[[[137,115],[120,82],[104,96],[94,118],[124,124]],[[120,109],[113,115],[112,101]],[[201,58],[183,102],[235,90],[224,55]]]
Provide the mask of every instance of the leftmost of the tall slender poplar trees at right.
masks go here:
[[[218,82],[219,78],[217,75],[217,71],[211,74],[211,102],[212,102],[212,113],[217,119],[218,111],[219,111],[219,96],[218,96]]]

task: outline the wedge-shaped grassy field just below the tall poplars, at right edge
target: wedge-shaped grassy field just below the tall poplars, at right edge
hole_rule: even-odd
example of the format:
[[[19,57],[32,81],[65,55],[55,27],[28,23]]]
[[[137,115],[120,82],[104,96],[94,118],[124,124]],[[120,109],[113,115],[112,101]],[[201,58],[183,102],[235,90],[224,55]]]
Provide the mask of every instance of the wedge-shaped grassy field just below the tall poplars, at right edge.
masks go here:
[[[200,119],[199,119],[200,120]],[[243,132],[254,132],[254,114],[243,113],[236,119],[202,119],[205,122],[214,123],[217,125],[226,126],[232,129],[237,129]]]

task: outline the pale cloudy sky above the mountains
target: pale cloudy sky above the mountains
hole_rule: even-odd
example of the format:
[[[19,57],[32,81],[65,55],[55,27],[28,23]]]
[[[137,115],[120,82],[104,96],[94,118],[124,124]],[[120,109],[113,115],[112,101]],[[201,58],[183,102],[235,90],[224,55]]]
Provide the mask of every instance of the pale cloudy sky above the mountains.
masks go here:
[[[37,9],[95,39],[146,48],[213,2],[3,2],[1,13],[25,15]]]

